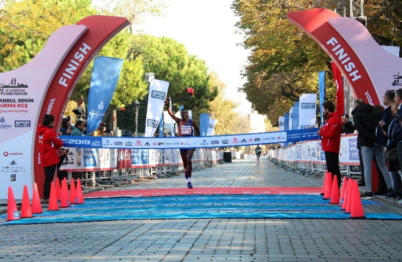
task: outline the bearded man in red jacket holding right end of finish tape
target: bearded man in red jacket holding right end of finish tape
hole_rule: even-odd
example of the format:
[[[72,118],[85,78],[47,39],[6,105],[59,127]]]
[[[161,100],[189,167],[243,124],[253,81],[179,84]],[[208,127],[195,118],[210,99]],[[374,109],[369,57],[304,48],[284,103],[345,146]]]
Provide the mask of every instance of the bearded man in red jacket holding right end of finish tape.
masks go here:
[[[334,113],[334,103],[325,101],[322,103],[322,107],[324,108],[322,113],[326,115],[327,121],[324,126],[318,130],[318,135],[322,136],[321,146],[322,151],[325,152],[327,170],[332,173],[332,181],[334,180],[334,175],[336,175],[338,187],[340,187],[339,148],[342,122],[340,121],[338,113]]]

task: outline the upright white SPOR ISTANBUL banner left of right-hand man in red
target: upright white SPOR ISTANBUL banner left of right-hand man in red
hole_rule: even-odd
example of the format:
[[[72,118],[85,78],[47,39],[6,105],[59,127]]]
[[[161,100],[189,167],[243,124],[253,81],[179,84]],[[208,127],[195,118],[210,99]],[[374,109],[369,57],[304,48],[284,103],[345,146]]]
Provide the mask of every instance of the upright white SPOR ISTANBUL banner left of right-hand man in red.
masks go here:
[[[299,102],[299,129],[315,127],[317,94],[302,94]]]

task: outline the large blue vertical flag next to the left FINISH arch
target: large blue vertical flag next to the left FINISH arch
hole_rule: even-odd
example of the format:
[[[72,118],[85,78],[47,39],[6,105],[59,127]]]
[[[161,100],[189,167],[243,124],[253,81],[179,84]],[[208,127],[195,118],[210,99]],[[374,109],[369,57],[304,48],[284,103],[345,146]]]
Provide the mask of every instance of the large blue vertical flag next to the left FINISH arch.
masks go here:
[[[99,126],[119,80],[123,59],[95,57],[88,96],[87,133]]]

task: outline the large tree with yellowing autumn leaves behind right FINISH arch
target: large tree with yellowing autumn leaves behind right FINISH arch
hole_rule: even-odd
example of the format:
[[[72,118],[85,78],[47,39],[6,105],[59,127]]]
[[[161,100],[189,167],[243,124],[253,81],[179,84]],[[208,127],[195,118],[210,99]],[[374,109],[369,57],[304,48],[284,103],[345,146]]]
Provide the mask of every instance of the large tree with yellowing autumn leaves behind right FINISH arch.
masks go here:
[[[286,19],[288,12],[312,8],[334,10],[338,1],[234,0],[236,26],[251,49],[249,65],[240,88],[260,114],[272,123],[289,110],[302,93],[318,93],[318,72],[326,71],[326,98],[334,100],[335,88],[330,57],[314,40]],[[400,1],[364,2],[368,30],[378,43],[400,45]]]

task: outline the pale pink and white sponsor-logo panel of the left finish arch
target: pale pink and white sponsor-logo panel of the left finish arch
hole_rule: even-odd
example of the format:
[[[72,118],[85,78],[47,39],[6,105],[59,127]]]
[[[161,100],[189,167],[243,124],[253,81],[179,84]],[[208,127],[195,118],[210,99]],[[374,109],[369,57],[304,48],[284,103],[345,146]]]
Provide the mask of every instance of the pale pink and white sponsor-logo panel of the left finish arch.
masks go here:
[[[40,108],[49,111],[55,97],[45,100],[49,85],[74,43],[88,28],[84,25],[65,26],[55,31],[29,63],[0,74],[0,199],[7,199],[12,187],[16,199],[21,199],[24,185],[32,195],[34,142]],[[57,118],[57,115],[55,115]],[[41,167],[43,172],[43,167]],[[44,178],[44,176],[43,176]],[[43,192],[41,187],[39,192]]]

